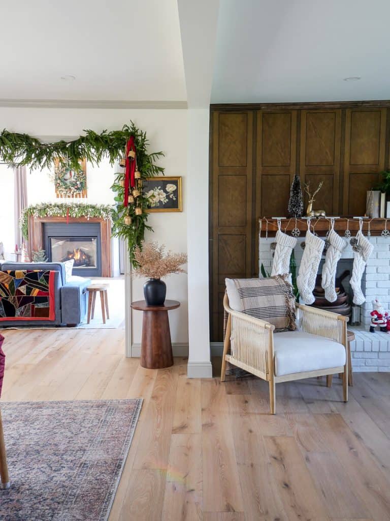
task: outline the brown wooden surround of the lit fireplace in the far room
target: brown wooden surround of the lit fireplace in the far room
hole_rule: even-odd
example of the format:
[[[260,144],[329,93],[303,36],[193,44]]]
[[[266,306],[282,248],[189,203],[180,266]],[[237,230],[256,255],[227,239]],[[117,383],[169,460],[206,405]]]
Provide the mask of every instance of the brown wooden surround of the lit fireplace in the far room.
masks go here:
[[[44,248],[45,222],[99,222],[101,241],[101,276],[111,277],[111,222],[99,217],[34,217],[29,216],[28,252],[30,258],[33,251]]]

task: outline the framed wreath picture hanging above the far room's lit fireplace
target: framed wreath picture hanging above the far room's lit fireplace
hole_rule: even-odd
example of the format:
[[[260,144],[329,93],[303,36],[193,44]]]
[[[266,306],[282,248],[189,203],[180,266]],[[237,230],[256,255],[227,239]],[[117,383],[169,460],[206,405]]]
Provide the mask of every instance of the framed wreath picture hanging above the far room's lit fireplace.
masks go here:
[[[57,197],[86,197],[87,196],[87,162],[80,162],[81,171],[75,172],[63,166],[58,160],[54,165],[54,183]]]

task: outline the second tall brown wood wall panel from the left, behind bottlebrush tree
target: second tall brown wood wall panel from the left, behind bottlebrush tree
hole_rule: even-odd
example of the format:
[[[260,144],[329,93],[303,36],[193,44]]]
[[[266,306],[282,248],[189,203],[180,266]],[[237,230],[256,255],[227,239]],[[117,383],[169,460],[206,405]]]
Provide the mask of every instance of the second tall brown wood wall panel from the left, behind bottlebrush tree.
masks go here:
[[[296,110],[257,111],[256,216],[286,216],[296,171]]]

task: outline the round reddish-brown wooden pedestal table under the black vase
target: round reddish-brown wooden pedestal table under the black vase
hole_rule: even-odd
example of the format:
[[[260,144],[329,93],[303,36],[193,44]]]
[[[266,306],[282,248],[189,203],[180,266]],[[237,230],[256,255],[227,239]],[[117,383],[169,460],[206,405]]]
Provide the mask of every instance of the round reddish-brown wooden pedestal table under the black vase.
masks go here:
[[[163,369],[173,365],[172,342],[168,311],[180,306],[176,300],[166,300],[163,306],[148,306],[144,300],[132,302],[133,309],[143,311],[141,367]]]

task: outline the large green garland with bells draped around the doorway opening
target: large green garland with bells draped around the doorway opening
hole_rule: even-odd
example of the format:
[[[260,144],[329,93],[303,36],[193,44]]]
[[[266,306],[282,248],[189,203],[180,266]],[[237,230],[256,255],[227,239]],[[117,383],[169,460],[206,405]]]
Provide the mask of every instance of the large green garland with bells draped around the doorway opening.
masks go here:
[[[98,165],[105,157],[109,159],[111,165],[118,162],[124,155],[129,137],[133,136],[141,179],[164,175],[164,168],[156,164],[156,161],[164,154],[162,152],[148,153],[149,142],[146,132],[139,130],[132,121],[129,126],[124,125],[122,130],[110,132],[103,130],[100,134],[93,130],[84,132],[85,135],[74,141],[42,143],[28,134],[12,133],[4,129],[0,133],[0,157],[5,163],[11,165],[25,165],[40,169],[52,168],[55,161],[58,160],[61,166],[80,172],[82,159],[86,159],[93,165]],[[137,205],[142,208],[141,215],[135,214],[135,205],[129,205],[127,208],[123,206],[124,188],[121,184],[123,180],[124,170],[115,174],[115,181],[111,187],[116,193],[114,198],[116,210],[112,214],[112,230],[114,236],[122,237],[127,241],[130,262],[135,265],[135,248],[142,246],[145,230],[152,230],[152,228],[146,224],[148,200],[143,191],[137,197]],[[70,205],[66,205],[66,207],[70,207]],[[124,224],[125,215],[131,216],[131,225]]]

